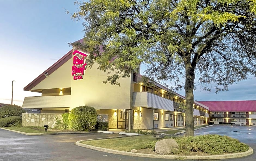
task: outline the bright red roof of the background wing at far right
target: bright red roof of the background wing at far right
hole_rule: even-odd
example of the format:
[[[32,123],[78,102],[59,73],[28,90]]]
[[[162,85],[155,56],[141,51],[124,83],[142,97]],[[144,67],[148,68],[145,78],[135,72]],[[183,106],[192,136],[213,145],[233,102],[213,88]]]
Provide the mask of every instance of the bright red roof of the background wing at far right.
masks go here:
[[[256,101],[198,101],[210,111],[256,112]]]

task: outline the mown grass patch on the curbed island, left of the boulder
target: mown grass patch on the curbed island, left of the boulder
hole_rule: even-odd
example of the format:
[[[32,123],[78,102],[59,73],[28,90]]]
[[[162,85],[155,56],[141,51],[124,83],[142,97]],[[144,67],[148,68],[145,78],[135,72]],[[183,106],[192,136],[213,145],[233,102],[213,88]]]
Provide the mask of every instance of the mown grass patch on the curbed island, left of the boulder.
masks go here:
[[[156,137],[152,135],[141,135],[133,137],[124,137],[124,138],[114,138],[114,139],[103,139],[103,140],[92,140],[84,141],[81,143],[93,145],[96,147],[121,150],[121,151],[131,151],[132,149],[142,149],[148,143],[155,141]]]

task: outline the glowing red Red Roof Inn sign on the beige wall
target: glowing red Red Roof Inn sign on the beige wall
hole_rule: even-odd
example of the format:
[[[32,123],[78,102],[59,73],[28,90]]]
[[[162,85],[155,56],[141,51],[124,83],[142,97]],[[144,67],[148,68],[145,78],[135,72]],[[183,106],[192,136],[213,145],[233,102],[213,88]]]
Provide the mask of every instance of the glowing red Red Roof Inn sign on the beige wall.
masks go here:
[[[85,63],[85,57],[87,57],[87,54],[77,50],[73,52],[73,55],[75,54],[77,54],[77,56],[73,57],[72,76],[74,77],[74,80],[79,80],[83,79],[84,71],[87,68],[87,63]],[[81,59],[78,57],[78,54],[82,56]]]

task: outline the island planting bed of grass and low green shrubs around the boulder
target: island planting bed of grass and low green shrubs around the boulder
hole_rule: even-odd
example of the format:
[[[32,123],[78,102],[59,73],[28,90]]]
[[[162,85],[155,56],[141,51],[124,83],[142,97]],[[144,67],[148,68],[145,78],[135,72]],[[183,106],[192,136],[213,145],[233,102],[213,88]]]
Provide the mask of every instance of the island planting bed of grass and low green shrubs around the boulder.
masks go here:
[[[173,138],[178,143],[177,150],[170,155],[212,155],[228,154],[248,151],[249,146],[240,143],[239,140],[220,135],[200,135],[196,137]],[[108,148],[120,151],[136,149],[137,153],[157,154],[154,152],[156,137],[141,135],[133,138],[112,138],[104,140],[83,141],[81,143],[96,147]],[[120,144],[125,143],[125,144]]]

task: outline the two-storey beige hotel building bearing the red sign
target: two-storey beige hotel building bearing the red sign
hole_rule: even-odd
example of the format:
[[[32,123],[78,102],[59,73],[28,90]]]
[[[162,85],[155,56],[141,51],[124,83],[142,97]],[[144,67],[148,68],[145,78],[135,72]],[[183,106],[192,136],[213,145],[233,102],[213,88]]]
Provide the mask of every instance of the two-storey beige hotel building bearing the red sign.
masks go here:
[[[77,106],[92,106],[97,114],[109,116],[109,128],[152,129],[184,126],[185,97],[159,83],[143,83],[142,75],[131,73],[119,79],[120,86],[102,83],[107,72],[87,68],[86,53],[70,50],[29,83],[24,90],[41,96],[25,97],[22,108],[41,113],[68,113]],[[209,121],[209,108],[194,101],[194,124]]]

